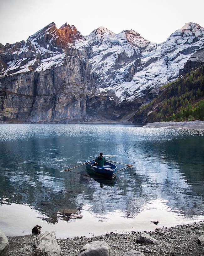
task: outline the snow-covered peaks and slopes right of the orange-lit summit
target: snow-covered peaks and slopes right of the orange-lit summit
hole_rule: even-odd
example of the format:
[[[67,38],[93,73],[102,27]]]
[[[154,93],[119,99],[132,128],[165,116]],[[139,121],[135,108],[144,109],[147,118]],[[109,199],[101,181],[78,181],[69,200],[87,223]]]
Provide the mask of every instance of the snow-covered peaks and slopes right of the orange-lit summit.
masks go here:
[[[137,32],[114,34],[105,28],[78,40],[76,47],[91,46],[89,64],[98,74],[96,87],[114,90],[120,101],[133,101],[148,90],[174,80],[190,56],[204,46],[204,28],[186,23],[162,44],[151,43]]]

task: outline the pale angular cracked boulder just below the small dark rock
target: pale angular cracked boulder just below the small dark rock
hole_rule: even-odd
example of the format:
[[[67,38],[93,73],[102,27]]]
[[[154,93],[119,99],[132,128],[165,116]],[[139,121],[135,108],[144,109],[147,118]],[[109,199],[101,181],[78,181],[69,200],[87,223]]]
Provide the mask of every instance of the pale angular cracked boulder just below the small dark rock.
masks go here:
[[[46,253],[60,253],[61,249],[56,241],[55,232],[45,231],[35,240],[35,252],[37,255]]]

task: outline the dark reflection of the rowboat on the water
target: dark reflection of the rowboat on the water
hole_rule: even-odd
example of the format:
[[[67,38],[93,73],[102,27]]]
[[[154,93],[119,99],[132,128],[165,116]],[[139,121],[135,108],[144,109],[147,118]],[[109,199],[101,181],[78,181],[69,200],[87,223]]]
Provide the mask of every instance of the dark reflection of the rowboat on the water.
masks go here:
[[[99,175],[87,166],[86,166],[86,171],[92,179],[94,179],[95,181],[97,181],[100,184],[101,188],[103,187],[103,185],[110,186],[110,187],[115,186],[116,176],[109,178],[109,177],[105,177],[103,175]]]

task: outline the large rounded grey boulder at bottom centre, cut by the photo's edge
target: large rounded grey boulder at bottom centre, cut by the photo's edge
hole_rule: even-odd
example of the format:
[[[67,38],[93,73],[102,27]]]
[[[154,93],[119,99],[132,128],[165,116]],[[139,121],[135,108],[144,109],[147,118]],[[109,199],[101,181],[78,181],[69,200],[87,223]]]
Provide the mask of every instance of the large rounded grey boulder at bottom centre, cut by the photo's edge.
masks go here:
[[[84,245],[78,256],[113,256],[112,249],[105,241],[94,241]]]

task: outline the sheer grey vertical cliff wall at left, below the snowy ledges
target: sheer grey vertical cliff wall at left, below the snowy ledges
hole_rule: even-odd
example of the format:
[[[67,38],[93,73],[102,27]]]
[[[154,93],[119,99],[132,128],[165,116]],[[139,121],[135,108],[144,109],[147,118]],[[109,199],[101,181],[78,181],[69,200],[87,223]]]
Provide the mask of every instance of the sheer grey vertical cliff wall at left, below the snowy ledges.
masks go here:
[[[2,78],[0,120],[13,122],[83,121],[87,89],[83,62],[65,57],[60,67]]]

